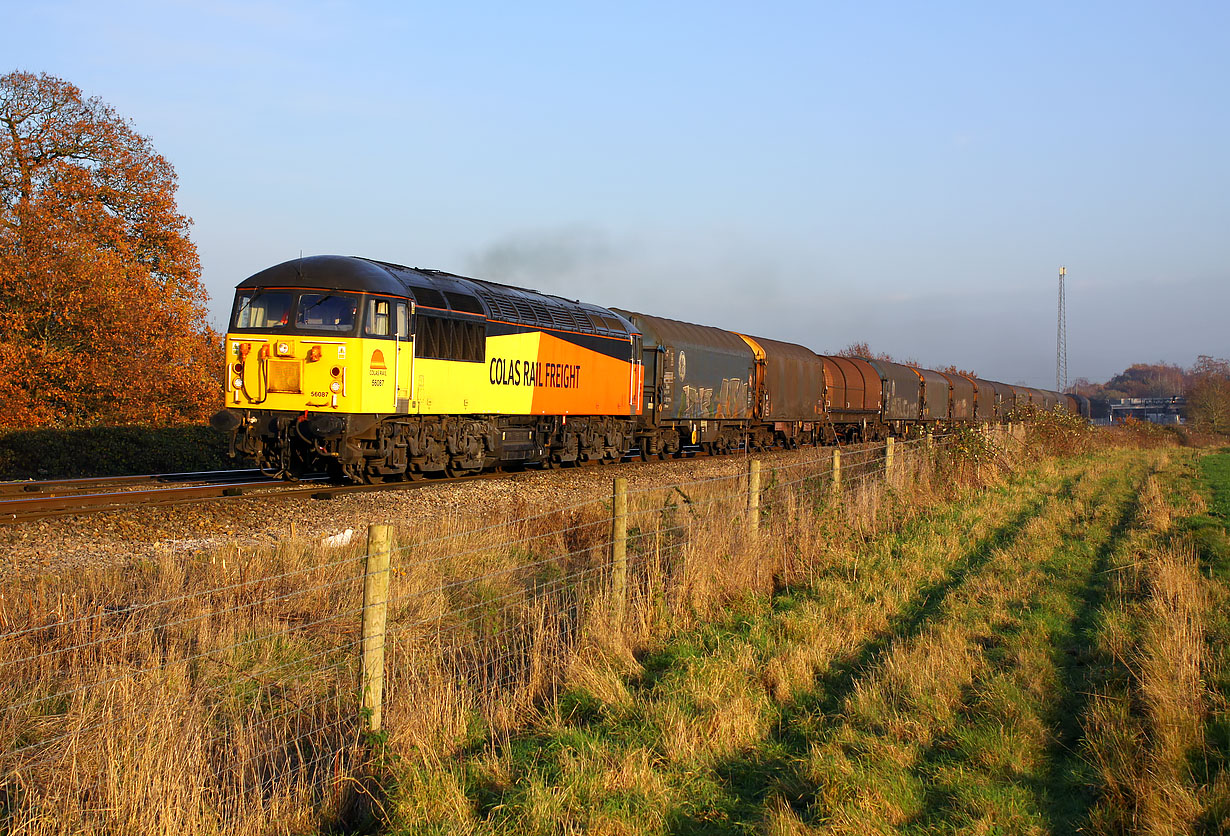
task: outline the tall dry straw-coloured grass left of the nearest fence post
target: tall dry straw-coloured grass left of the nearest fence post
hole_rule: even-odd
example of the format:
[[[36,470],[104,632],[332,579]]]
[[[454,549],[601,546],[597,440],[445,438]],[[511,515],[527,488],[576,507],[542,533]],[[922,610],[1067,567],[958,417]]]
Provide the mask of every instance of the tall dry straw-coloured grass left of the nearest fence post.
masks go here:
[[[358,550],[228,551],[10,590],[14,834],[264,832],[339,815],[359,762]]]

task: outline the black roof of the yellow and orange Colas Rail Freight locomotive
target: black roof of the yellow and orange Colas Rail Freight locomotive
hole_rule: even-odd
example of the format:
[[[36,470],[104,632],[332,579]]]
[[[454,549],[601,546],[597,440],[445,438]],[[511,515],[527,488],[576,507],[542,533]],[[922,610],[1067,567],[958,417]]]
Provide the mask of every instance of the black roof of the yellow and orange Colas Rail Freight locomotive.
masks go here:
[[[627,320],[598,305],[358,256],[295,258],[263,269],[237,286],[378,293],[408,296],[422,307],[477,314],[518,325],[620,337],[638,333]]]

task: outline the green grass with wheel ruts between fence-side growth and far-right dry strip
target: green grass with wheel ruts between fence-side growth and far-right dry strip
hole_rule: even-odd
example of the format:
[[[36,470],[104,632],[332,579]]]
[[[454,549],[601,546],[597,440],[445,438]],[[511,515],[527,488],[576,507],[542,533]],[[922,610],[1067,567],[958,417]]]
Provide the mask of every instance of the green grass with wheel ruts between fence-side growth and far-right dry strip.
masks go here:
[[[1154,454],[1041,466],[399,776],[392,831],[1077,832]]]

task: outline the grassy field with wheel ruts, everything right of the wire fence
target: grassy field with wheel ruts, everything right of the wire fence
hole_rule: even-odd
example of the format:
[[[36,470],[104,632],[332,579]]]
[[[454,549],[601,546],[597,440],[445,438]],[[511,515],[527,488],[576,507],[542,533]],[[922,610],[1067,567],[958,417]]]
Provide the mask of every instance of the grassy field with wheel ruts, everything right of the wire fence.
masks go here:
[[[394,830],[1225,832],[1228,519],[1226,452],[1020,470],[403,762]]]

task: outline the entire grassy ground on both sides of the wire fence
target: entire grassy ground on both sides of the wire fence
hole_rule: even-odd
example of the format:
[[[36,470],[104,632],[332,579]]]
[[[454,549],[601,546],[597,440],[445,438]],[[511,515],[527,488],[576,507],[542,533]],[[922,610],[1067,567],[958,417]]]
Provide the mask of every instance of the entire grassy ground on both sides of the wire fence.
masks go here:
[[[1230,450],[1064,420],[16,579],[0,832],[1225,832]]]

